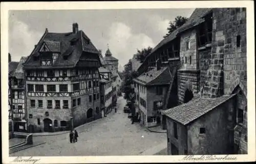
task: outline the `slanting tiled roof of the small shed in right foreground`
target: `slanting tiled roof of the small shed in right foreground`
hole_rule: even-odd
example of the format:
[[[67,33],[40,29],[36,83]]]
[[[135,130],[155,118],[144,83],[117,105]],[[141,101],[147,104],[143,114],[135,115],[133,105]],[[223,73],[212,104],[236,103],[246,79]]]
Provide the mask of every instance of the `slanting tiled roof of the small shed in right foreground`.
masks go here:
[[[234,95],[224,95],[213,99],[206,99],[202,97],[197,99],[195,98],[188,103],[164,110],[162,111],[162,114],[183,125],[187,125],[210,110],[215,109],[233,96]]]

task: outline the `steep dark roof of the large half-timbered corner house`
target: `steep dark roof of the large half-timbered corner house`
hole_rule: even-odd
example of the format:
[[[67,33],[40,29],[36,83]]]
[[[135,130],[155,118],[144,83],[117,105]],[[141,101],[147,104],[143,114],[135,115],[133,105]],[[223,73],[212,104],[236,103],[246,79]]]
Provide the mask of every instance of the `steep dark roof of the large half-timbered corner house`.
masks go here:
[[[74,45],[71,45],[71,41],[74,41]],[[39,55],[39,50],[42,44],[46,43],[50,51],[60,52],[56,62],[51,66],[41,66],[40,60],[33,58]],[[88,55],[90,54],[90,55]],[[92,55],[93,54],[93,55]],[[63,56],[68,57],[66,60]],[[88,59],[99,60],[98,50],[93,43],[81,30],[77,33],[49,33],[46,30],[45,34],[41,37],[35,49],[32,51],[26,63],[25,68],[52,68],[52,67],[75,67],[77,63],[80,66],[86,65],[86,62],[81,61],[80,57]],[[78,62],[79,61],[79,62]],[[95,62],[91,62],[95,66]],[[97,65],[97,64],[96,64]],[[87,66],[89,66],[87,64]]]

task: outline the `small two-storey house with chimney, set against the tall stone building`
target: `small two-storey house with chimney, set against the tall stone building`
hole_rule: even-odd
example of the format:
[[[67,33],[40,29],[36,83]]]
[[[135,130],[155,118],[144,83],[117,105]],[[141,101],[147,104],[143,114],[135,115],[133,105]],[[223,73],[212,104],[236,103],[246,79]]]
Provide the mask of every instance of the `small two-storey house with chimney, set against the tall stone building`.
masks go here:
[[[161,122],[160,111],[164,108],[165,96],[172,78],[169,68],[161,67],[160,62],[157,62],[156,68],[133,79],[135,109],[139,113],[141,123],[146,127]]]

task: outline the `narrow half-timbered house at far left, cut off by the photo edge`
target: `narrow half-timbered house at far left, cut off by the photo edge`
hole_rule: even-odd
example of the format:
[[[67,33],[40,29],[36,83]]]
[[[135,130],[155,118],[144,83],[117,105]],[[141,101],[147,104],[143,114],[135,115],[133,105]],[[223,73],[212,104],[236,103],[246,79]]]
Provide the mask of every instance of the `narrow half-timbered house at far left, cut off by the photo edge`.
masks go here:
[[[19,62],[9,62],[9,119],[13,124],[13,131],[27,131],[27,111],[25,95],[25,75],[23,63],[27,57],[20,58]]]

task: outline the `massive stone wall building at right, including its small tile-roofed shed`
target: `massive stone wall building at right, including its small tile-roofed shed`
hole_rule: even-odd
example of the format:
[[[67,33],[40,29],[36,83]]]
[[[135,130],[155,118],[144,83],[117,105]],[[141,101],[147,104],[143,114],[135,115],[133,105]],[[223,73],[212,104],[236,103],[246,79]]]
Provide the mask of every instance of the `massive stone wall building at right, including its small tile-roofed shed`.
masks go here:
[[[146,57],[139,74],[159,59],[172,77],[160,111],[169,155],[247,154],[246,55],[246,8],[207,8]]]

